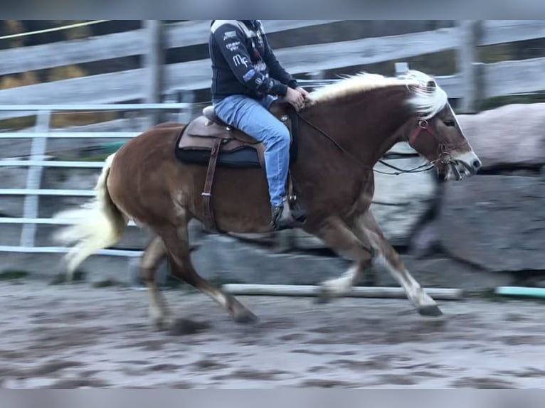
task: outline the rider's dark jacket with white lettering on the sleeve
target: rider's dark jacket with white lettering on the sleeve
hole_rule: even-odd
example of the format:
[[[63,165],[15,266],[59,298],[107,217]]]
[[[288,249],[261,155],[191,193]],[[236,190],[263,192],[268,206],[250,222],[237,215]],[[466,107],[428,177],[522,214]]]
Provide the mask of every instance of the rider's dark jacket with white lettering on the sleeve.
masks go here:
[[[212,60],[212,98],[284,96],[297,87],[268,44],[258,20],[213,20],[208,48]]]

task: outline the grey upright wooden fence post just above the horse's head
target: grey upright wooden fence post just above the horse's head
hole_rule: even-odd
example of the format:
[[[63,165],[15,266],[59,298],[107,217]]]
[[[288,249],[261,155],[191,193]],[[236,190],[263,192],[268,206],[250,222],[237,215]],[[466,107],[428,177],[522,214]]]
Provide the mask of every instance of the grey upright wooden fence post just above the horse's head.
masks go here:
[[[480,27],[479,20],[461,20],[458,23],[460,46],[457,48],[457,65],[462,77],[460,86],[464,96],[460,111],[463,113],[477,112],[482,96],[482,64],[477,58]]]

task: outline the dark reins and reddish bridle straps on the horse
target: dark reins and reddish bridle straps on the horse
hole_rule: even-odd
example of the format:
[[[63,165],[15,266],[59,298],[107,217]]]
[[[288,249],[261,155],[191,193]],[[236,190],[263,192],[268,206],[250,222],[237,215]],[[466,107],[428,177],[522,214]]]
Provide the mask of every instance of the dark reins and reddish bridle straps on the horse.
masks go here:
[[[445,138],[441,137],[438,134],[438,132],[435,131],[433,126],[431,124],[429,124],[428,121],[425,120],[425,119],[420,119],[418,121],[417,127],[415,129],[413,129],[413,131],[411,131],[411,134],[410,134],[409,139],[408,139],[409,146],[411,146],[414,149],[413,143],[416,141],[416,139],[418,138],[420,133],[425,130],[429,134],[434,136],[435,139],[437,139],[440,142],[443,142],[443,143],[440,143],[439,146],[438,146],[438,158],[433,160],[433,161],[430,161],[429,164],[428,163],[423,163],[423,164],[420,164],[420,166],[416,166],[415,168],[410,168],[408,170],[403,169],[403,168],[398,168],[397,166],[393,166],[392,164],[386,163],[386,161],[383,161],[382,159],[380,159],[379,163],[381,163],[383,166],[386,166],[388,168],[392,168],[393,170],[396,171],[396,172],[391,173],[391,172],[387,172],[387,171],[377,170],[376,168],[374,168],[372,166],[369,166],[369,165],[367,165],[365,163],[362,163],[361,160],[359,160],[356,156],[354,156],[354,154],[351,154],[349,151],[344,149],[344,147],[342,147],[339,143],[337,143],[337,141],[335,141],[325,131],[323,131],[322,129],[319,129],[319,127],[317,127],[316,125],[314,125],[314,124],[310,123],[309,121],[307,121],[307,119],[302,117],[299,112],[296,111],[295,114],[297,114],[297,117],[299,117],[299,119],[301,119],[303,122],[308,124],[309,127],[312,127],[313,129],[319,131],[319,133],[323,134],[329,141],[332,142],[332,144],[337,146],[337,149],[342,151],[347,156],[350,156],[354,161],[359,163],[360,166],[369,168],[370,170],[374,171],[375,173],[388,174],[388,175],[391,175],[391,176],[398,176],[399,174],[403,174],[403,173],[421,173],[423,171],[430,171],[431,169],[433,169],[433,166],[434,166],[435,163],[439,162],[439,163],[442,163],[442,164],[448,164],[448,163],[453,163],[454,162],[453,159],[450,156],[450,153],[449,153],[448,149],[447,149],[447,146],[449,145],[448,141],[445,140]]]

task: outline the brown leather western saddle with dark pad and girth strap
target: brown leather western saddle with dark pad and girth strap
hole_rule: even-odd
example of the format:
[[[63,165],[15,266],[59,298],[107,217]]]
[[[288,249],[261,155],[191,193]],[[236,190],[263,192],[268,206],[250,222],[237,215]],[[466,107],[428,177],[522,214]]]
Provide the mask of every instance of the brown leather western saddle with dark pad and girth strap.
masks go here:
[[[287,102],[273,102],[269,110],[290,130],[290,163],[293,163],[297,158],[295,110]],[[218,230],[211,210],[211,190],[216,166],[265,168],[264,151],[263,143],[217,117],[213,106],[205,107],[203,114],[189,122],[181,131],[175,151],[178,159],[189,163],[208,164],[201,193],[206,229]]]

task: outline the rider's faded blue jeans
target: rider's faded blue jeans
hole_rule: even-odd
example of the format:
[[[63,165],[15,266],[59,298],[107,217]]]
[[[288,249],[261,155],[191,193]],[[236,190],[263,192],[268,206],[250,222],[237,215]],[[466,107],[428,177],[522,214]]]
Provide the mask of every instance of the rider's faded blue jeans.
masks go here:
[[[271,95],[263,100],[231,95],[213,101],[213,105],[216,115],[223,122],[265,145],[265,171],[270,203],[280,206],[285,196],[287,170],[290,165],[290,131],[268,110],[275,99]]]

